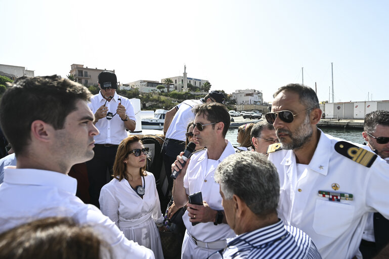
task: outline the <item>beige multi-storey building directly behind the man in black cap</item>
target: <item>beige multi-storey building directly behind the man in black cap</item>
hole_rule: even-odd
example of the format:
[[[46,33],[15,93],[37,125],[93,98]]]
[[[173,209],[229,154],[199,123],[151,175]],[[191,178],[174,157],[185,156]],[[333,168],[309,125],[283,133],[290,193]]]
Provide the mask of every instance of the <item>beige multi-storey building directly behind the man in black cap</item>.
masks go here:
[[[107,69],[98,69],[97,67],[88,68],[80,64],[72,64],[70,67],[71,70],[69,73],[74,75],[75,81],[87,86],[97,85],[99,81],[99,74],[103,71],[110,71],[115,73],[115,69],[107,70]]]

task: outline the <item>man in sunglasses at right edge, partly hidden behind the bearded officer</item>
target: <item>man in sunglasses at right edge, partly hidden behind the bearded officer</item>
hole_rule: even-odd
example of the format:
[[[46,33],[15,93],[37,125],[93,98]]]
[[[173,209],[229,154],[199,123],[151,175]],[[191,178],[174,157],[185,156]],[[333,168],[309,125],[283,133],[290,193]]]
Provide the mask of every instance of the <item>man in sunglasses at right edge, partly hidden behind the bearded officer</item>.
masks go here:
[[[373,111],[365,116],[363,138],[382,159],[389,163],[389,111]],[[389,221],[378,212],[370,212],[359,249],[363,258],[372,258],[389,242]]]

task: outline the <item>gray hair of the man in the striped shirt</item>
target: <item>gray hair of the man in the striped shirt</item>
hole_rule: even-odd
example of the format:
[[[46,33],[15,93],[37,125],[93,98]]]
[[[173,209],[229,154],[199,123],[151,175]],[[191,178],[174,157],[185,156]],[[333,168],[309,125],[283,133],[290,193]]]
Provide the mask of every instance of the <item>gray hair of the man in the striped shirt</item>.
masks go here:
[[[280,196],[280,180],[272,162],[257,152],[241,152],[228,156],[215,171],[224,197],[235,194],[258,216],[276,210]]]

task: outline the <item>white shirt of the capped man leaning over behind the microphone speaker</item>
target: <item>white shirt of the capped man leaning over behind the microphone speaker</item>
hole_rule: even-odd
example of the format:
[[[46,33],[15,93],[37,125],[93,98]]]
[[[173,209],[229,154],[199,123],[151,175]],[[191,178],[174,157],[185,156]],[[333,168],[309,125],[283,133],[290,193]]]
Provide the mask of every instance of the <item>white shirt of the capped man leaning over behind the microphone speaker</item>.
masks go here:
[[[176,106],[177,112],[171,120],[166,132],[166,138],[185,141],[185,133],[188,123],[194,120],[195,114],[192,109],[202,104],[201,100],[185,100]]]

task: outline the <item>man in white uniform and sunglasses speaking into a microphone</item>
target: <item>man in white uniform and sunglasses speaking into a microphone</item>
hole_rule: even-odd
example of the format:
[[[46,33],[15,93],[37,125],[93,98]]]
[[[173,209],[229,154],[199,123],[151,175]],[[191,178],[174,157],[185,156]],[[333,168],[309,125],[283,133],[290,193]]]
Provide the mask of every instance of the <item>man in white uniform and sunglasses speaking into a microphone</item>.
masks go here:
[[[201,104],[195,107],[194,113],[193,134],[199,145],[207,148],[194,153],[184,167],[181,165],[184,161],[182,156],[177,156],[178,160],[171,168],[182,170],[174,181],[173,197],[176,206],[182,207],[187,204],[189,195],[201,191],[203,204],[188,203],[183,215],[187,231],[182,258],[207,258],[214,251],[226,247],[227,238],[235,236],[224,217],[219,184],[213,179],[216,167],[224,158],[234,154],[235,149],[225,140],[230,127],[230,114],[224,105]]]

